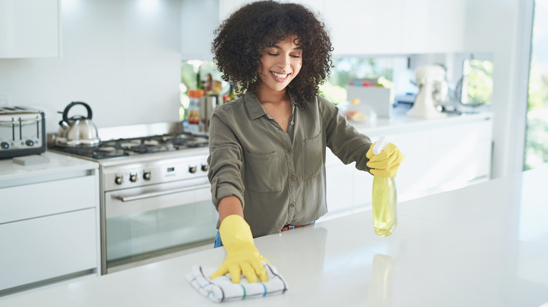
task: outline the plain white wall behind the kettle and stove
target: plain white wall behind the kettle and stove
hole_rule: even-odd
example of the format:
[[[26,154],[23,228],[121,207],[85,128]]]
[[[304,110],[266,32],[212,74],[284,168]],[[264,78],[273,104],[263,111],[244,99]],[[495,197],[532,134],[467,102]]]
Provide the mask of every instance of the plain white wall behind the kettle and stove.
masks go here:
[[[178,121],[180,6],[61,0],[63,56],[0,59],[0,93],[11,106],[45,111],[48,132],[72,101],[88,103],[98,127]],[[77,108],[70,115],[85,113]]]

